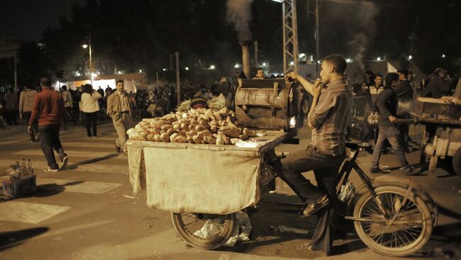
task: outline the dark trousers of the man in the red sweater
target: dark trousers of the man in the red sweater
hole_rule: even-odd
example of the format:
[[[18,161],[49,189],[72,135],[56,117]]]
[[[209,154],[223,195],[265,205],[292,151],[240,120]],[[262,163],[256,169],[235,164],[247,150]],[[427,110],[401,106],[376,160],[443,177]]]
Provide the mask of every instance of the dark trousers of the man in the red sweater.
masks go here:
[[[67,154],[64,153],[60,141],[60,125],[39,125],[38,132],[40,133],[40,142],[48,166],[50,166],[51,169],[59,169],[53,149],[59,154],[61,161],[67,156]]]

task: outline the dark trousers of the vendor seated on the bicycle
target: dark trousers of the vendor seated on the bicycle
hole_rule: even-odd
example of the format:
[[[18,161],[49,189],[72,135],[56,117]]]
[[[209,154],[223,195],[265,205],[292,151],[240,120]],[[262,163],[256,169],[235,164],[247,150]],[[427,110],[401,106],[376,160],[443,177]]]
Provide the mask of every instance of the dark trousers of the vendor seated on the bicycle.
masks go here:
[[[284,180],[296,195],[306,203],[314,203],[318,198],[327,195],[330,205],[318,213],[318,222],[312,236],[314,249],[329,252],[333,244],[333,210],[338,205],[336,186],[338,185],[338,170],[345,155],[333,156],[319,151],[316,147],[290,153],[281,162],[276,163],[277,175]],[[318,186],[304,178],[301,173],[313,170]]]

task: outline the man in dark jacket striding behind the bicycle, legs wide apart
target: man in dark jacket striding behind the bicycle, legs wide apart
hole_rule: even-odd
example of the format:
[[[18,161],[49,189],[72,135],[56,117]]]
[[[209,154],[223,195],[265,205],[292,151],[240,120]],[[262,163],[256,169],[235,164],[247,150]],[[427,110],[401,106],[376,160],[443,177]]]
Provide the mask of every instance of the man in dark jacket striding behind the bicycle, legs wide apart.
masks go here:
[[[372,166],[370,171],[372,174],[389,174],[389,170],[379,169],[379,157],[381,156],[381,149],[384,140],[388,140],[391,144],[394,153],[404,170],[406,175],[419,174],[421,169],[415,169],[409,166],[406,160],[404,148],[402,146],[401,134],[399,129],[396,128],[396,115],[397,115],[397,94],[396,89],[400,86],[399,74],[389,73],[384,80],[386,86],[379,94],[376,104],[379,111],[378,125],[379,134],[376,145],[373,150]]]

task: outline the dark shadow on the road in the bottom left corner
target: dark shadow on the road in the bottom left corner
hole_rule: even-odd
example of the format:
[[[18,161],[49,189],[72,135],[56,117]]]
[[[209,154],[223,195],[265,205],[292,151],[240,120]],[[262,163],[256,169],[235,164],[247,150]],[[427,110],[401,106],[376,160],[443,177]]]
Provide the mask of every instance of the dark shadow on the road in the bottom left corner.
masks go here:
[[[16,230],[0,233],[0,251],[23,244],[31,237],[36,237],[50,230],[48,227],[34,227],[26,230]]]

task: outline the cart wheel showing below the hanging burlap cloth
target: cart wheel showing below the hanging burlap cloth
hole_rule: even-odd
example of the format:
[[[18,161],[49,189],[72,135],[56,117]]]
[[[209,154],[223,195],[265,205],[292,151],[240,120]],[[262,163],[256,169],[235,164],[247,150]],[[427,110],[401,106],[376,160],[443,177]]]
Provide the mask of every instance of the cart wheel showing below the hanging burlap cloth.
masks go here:
[[[235,228],[235,213],[172,213],[174,229],[187,244],[198,249],[216,249],[230,239]]]

